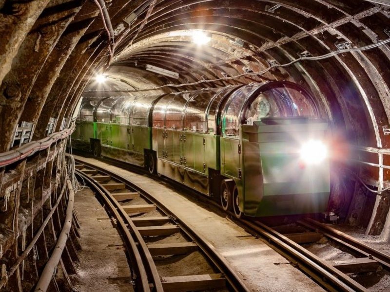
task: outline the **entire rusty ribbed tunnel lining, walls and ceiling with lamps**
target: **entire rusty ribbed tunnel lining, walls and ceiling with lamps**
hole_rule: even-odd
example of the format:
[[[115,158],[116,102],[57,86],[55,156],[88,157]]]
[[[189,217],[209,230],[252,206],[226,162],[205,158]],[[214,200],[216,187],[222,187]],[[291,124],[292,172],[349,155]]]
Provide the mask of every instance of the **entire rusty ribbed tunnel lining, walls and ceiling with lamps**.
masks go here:
[[[101,155],[78,128],[88,100],[296,84],[328,125],[328,216],[389,243],[390,1],[0,0],[0,35],[5,291],[34,291],[38,275],[15,262],[48,256],[43,236],[20,257],[71,192],[71,136]]]

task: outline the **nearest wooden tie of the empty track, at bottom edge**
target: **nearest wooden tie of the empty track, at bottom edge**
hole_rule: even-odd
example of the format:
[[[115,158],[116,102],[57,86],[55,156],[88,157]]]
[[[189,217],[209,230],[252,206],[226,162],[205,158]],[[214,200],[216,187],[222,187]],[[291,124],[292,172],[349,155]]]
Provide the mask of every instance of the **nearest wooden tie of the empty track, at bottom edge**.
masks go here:
[[[161,284],[164,291],[199,291],[224,289],[226,279],[222,274],[162,277]]]

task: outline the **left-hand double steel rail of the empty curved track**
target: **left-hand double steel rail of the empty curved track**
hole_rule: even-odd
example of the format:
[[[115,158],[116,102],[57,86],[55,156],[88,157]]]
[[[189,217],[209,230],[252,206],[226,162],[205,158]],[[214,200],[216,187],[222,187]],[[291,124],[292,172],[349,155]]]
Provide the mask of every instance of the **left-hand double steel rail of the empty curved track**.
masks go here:
[[[152,279],[153,279],[153,282],[155,284],[156,291],[162,292],[163,289],[162,289],[161,281],[159,279],[159,275],[157,273],[156,266],[153,262],[153,258],[150,255],[150,252],[147,249],[147,246],[144,243],[141,235],[139,234],[137,227],[131,221],[131,219],[126,214],[126,212],[123,210],[121,205],[117,202],[117,200],[115,200],[106,189],[101,187],[100,184],[96,180],[93,180],[91,177],[83,174],[81,171],[76,170],[76,172],[86,182],[88,182],[96,191],[98,191],[100,197],[107,203],[107,205],[110,208],[110,211],[115,216],[115,219],[117,219],[117,222],[119,222],[119,226],[124,234],[124,238],[126,240],[127,246],[130,247],[131,253],[129,252],[129,257],[131,258],[134,256],[136,263],[137,263],[138,274],[139,274],[139,277],[141,278],[141,282],[140,282],[141,288],[140,289],[142,289],[142,291],[144,291],[144,292],[151,291],[150,287],[149,287],[148,274],[147,274],[145,266],[143,264],[142,256],[137,248],[137,244],[141,247],[142,252],[144,253],[144,257],[147,259],[147,262],[149,264],[149,270],[150,270],[150,273],[152,274]],[[122,219],[122,218],[124,218],[124,219]],[[137,243],[134,240],[134,238],[132,237],[132,235],[129,231],[129,228],[131,229],[131,233],[133,233],[136,236]],[[142,242],[143,242],[143,244],[142,244]],[[147,254],[147,255],[145,255],[145,254]],[[152,267],[150,265],[152,265]]]

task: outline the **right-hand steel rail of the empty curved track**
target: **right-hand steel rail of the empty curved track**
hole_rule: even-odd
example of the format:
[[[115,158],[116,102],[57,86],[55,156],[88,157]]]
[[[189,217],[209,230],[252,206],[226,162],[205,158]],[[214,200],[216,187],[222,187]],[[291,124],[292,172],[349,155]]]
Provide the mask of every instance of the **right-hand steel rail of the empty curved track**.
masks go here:
[[[237,272],[234,271],[234,269],[230,266],[229,262],[215,250],[215,247],[210,242],[208,242],[204,237],[198,235],[194,231],[195,228],[193,226],[191,226],[190,224],[185,223],[184,221],[179,219],[179,217],[176,216],[176,214],[174,212],[172,212],[167,207],[165,207],[161,202],[157,201],[153,196],[151,196],[141,186],[137,185],[136,183],[130,182],[128,179],[122,177],[121,175],[118,175],[118,174],[111,172],[107,169],[99,167],[95,164],[87,163],[84,161],[79,161],[77,159],[75,159],[75,161],[77,161],[80,164],[84,164],[86,166],[92,167],[105,175],[111,176],[112,178],[114,178],[118,182],[124,183],[128,187],[136,189],[148,201],[150,201],[151,203],[154,203],[163,213],[166,213],[166,214],[170,215],[171,217],[175,218],[174,221],[176,221],[176,223],[178,223],[178,225],[180,226],[182,231],[185,232],[190,238],[195,239],[195,242],[197,243],[198,247],[202,250],[202,252],[225,275],[226,280],[228,281],[228,283],[230,284],[230,286],[233,288],[234,291],[239,291],[239,292],[251,291],[248,287],[246,287],[242,277],[239,274],[237,274]],[[91,178],[89,178],[89,179],[91,179]]]

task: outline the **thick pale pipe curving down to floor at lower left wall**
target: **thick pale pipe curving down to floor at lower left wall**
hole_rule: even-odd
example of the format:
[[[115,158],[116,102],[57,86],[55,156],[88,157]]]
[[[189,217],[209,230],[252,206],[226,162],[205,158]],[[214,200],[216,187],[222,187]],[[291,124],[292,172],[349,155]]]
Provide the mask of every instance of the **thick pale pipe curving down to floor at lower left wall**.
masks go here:
[[[68,206],[66,207],[65,222],[62,227],[61,233],[58,237],[56,247],[54,248],[52,255],[47,261],[45,268],[43,269],[43,272],[39,277],[39,281],[37,283],[34,292],[46,292],[47,288],[49,287],[50,281],[55,275],[55,271],[57,270],[57,265],[59,264],[62,251],[64,250],[66,241],[68,240],[70,228],[72,226],[72,215],[73,215],[73,205],[75,202],[75,193],[73,191],[72,183],[69,180],[69,177],[66,178],[66,185],[69,190],[69,199],[68,199]]]

